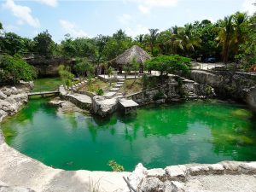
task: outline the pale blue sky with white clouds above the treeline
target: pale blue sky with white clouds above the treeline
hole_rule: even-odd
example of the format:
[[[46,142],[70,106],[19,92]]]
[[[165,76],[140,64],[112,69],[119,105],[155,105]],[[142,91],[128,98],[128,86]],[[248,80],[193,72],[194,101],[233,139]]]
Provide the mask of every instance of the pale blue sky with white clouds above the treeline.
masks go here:
[[[256,0],[0,0],[0,22],[6,32],[33,38],[48,30],[55,42],[112,35],[120,28],[131,36],[183,26],[195,20],[256,11]]]

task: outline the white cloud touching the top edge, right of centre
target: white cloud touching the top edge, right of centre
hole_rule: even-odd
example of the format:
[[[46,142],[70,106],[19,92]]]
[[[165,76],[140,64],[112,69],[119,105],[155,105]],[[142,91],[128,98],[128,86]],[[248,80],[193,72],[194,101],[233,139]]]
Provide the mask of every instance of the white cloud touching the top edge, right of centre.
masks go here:
[[[174,7],[179,0],[127,0],[128,2],[137,3],[138,9],[143,14],[150,13],[155,7]]]

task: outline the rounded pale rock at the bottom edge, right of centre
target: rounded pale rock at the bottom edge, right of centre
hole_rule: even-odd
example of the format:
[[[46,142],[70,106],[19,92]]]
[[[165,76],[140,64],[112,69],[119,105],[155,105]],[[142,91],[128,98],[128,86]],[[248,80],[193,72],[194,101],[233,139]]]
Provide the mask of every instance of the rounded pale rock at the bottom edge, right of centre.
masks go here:
[[[165,183],[157,177],[145,178],[141,187],[142,192],[164,192]]]

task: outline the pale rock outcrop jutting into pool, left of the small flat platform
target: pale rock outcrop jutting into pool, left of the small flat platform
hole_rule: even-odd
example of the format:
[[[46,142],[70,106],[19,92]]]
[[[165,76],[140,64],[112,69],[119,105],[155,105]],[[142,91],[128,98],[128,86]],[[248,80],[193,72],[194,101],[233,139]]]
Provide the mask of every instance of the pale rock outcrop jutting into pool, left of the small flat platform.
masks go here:
[[[94,96],[92,99],[92,112],[102,117],[115,112],[118,109],[118,98],[107,99],[104,96]]]

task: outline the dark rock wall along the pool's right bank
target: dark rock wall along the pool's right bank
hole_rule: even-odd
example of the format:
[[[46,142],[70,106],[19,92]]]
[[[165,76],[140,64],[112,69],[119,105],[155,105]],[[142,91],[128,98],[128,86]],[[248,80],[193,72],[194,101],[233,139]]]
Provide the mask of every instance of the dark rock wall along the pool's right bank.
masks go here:
[[[247,102],[253,108],[256,106],[253,99],[256,73],[192,70],[189,79],[212,86],[220,98]]]

